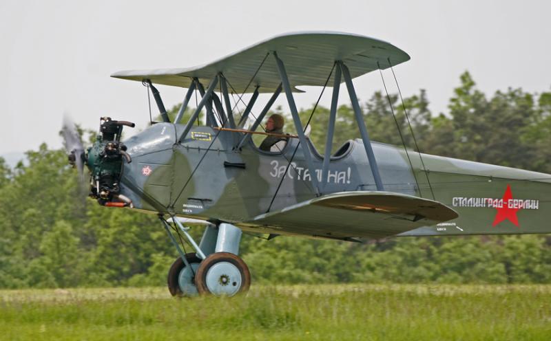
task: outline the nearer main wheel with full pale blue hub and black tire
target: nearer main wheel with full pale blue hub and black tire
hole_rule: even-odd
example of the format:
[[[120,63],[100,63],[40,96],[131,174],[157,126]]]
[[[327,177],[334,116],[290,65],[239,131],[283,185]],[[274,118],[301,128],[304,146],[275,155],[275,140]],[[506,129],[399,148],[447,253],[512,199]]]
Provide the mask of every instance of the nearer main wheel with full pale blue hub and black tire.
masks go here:
[[[195,278],[199,294],[233,296],[247,292],[251,286],[249,267],[229,252],[216,252],[207,256],[200,263]]]

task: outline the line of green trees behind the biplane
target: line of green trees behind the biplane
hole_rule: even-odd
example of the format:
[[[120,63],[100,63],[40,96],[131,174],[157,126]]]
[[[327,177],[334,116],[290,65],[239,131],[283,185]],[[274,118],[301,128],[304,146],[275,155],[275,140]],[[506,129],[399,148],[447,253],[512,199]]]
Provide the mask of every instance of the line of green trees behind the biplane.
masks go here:
[[[424,153],[551,173],[551,92],[510,88],[486,96],[465,72],[447,113],[433,115],[423,90],[404,104]],[[402,145],[399,126],[405,144],[415,148],[404,107],[397,94],[381,92],[363,102],[371,138]],[[301,110],[303,122],[312,109]],[[349,105],[338,108],[337,118],[333,151],[360,137]],[[329,109],[318,107],[310,137],[320,150],[328,120]],[[154,214],[85,199],[65,151],[42,144],[26,157],[13,168],[0,158],[1,288],[165,284],[177,254]],[[192,231],[199,236],[201,229]],[[245,234],[241,245],[254,281],[267,284],[551,283],[550,251],[548,235],[358,244]]]

